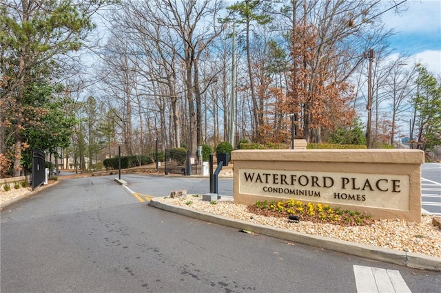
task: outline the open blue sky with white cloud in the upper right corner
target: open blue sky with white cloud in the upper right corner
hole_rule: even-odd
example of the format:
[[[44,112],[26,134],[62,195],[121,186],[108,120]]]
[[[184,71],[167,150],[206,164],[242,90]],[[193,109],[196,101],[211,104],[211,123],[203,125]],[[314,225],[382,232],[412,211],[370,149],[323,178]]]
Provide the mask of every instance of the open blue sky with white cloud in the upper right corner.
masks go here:
[[[396,3],[401,1],[396,0]],[[441,0],[407,0],[407,10],[383,15],[396,35],[389,40],[397,54],[410,54],[434,76],[441,76]]]

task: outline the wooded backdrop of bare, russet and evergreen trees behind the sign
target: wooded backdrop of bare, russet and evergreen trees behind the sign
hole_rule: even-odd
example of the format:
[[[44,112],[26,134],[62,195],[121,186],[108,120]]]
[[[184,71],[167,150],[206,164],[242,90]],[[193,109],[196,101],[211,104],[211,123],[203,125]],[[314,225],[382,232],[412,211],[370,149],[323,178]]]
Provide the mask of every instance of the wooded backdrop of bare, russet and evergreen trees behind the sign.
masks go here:
[[[127,166],[179,165],[227,141],[358,148],[366,132],[435,154],[440,80],[395,54],[382,19],[406,1],[228,2],[0,1],[0,177],[30,171],[33,149],[76,172],[114,168],[119,149]]]

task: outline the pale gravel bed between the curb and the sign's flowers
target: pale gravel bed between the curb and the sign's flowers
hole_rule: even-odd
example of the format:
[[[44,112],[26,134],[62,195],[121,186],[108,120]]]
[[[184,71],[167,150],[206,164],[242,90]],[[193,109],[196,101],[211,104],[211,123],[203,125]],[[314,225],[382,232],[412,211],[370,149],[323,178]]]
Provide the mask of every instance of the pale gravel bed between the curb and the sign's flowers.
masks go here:
[[[223,197],[212,204],[202,200],[202,196],[187,195],[181,198],[158,197],[158,201],[177,206],[187,206],[214,215],[223,215],[232,219],[250,221],[311,235],[336,238],[345,241],[416,252],[431,257],[441,257],[441,230],[433,226],[433,216],[423,216],[420,224],[396,220],[377,220],[369,226],[339,226],[334,224],[316,224],[311,221],[289,223],[285,218],[264,217],[249,213],[247,206],[234,204],[232,198]],[[192,202],[190,204],[190,202]]]

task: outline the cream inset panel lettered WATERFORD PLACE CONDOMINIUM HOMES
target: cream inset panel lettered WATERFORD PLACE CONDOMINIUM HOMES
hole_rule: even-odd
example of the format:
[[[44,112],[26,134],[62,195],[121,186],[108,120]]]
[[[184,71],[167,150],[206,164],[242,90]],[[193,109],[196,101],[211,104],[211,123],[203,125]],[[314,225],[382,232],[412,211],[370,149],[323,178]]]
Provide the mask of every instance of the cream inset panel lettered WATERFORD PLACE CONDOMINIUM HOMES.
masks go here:
[[[409,210],[409,175],[240,169],[240,193]]]

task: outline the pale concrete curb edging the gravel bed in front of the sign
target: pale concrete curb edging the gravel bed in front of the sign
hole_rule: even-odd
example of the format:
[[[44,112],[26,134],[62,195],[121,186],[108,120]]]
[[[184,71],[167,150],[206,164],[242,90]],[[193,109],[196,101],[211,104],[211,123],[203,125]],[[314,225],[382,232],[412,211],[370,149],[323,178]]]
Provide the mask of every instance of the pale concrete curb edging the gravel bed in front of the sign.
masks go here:
[[[157,199],[150,200],[150,206],[167,210],[172,213],[200,219],[202,221],[209,221],[213,224],[219,224],[240,230],[249,230],[260,235],[284,239],[296,243],[314,246],[345,254],[355,255],[357,257],[365,257],[376,261],[384,261],[396,265],[403,265],[409,268],[417,268],[420,270],[433,270],[441,272],[441,258],[429,257],[415,252],[402,252],[399,250],[392,250],[389,248],[379,248],[376,246],[367,246],[365,244],[344,241],[340,239],[332,239],[316,235],[307,235],[296,231],[288,231],[271,226],[250,223],[238,219],[231,219],[220,215],[213,215],[199,210],[193,210],[185,206],[176,206],[158,202]]]

